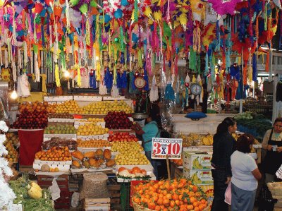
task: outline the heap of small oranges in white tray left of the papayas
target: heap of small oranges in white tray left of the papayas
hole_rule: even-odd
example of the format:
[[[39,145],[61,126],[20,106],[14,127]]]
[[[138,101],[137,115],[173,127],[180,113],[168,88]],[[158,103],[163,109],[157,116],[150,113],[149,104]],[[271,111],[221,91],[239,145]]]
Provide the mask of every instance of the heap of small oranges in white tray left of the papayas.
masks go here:
[[[36,152],[35,159],[44,161],[68,161],[71,160],[71,152],[68,147],[51,147],[49,150]]]

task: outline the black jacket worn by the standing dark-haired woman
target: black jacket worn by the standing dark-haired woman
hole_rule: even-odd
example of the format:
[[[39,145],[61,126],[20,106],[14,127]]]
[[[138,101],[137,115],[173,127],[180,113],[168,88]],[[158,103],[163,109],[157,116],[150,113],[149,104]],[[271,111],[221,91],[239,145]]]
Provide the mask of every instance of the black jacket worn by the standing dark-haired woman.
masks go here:
[[[231,155],[235,151],[235,139],[228,132],[214,135],[212,163],[225,169],[226,176],[232,176]]]

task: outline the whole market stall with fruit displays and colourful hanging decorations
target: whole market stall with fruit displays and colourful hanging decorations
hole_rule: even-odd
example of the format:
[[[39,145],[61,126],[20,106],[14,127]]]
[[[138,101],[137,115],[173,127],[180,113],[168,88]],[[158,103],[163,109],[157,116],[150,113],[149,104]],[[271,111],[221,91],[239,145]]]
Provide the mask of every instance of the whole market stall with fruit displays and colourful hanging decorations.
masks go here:
[[[0,159],[14,171],[11,181],[11,169],[0,171],[11,192],[0,210],[209,210],[218,124],[232,116],[234,138],[261,142],[281,110],[281,9],[0,0]],[[149,118],[158,133],[136,131]]]

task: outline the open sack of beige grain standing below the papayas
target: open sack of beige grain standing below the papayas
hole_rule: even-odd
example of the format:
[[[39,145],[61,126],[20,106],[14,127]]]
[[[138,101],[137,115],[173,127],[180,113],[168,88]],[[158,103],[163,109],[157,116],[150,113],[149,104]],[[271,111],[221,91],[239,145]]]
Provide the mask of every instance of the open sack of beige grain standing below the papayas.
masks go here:
[[[84,198],[107,198],[109,197],[106,181],[108,176],[102,172],[93,172],[83,175],[80,200]]]

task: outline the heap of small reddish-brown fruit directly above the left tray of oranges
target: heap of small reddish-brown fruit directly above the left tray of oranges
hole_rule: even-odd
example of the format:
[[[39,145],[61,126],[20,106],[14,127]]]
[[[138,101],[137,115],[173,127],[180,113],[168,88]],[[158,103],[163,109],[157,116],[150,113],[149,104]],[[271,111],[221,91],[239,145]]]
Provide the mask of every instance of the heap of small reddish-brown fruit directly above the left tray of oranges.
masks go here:
[[[69,150],[77,150],[78,143],[73,139],[52,137],[42,143],[42,150],[49,150],[52,147],[68,147]]]

